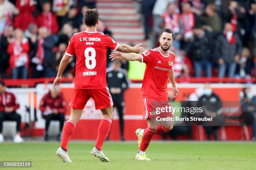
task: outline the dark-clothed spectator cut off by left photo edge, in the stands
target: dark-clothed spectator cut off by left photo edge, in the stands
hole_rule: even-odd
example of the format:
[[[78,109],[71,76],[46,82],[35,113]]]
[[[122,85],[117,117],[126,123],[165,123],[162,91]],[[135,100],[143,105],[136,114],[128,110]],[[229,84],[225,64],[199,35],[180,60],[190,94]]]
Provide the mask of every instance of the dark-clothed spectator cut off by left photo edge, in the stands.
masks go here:
[[[9,65],[10,55],[7,52],[9,43],[13,39],[13,26],[8,26],[5,28],[4,35],[0,38],[0,75],[6,78],[6,69]]]

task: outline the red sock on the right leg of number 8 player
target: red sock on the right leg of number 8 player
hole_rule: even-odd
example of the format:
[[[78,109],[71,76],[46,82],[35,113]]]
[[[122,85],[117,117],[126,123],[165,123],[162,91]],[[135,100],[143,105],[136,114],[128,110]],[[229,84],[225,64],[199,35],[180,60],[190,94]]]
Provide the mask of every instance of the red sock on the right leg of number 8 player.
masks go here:
[[[103,117],[102,120],[100,121],[100,125],[98,128],[98,136],[95,143],[95,147],[97,148],[97,150],[100,150],[100,151],[102,150],[102,145],[110,131],[111,122],[112,120],[108,117]]]

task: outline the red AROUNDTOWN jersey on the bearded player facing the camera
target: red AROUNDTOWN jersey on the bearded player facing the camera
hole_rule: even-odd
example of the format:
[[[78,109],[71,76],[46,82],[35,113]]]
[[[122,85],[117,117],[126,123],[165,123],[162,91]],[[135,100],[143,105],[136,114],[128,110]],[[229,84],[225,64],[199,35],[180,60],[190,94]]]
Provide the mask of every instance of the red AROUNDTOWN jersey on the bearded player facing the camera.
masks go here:
[[[157,47],[143,52],[141,56],[141,62],[146,63],[141,89],[142,98],[168,100],[167,84],[175,54],[169,50],[165,56]]]

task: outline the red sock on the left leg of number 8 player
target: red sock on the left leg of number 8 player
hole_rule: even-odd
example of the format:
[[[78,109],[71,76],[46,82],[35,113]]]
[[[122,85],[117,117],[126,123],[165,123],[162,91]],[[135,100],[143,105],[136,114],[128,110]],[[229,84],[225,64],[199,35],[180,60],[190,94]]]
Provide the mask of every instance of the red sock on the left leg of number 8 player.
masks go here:
[[[63,127],[62,138],[61,138],[61,148],[64,149],[66,152],[67,152],[67,145],[69,143],[69,140],[75,128],[76,128],[76,122],[74,122],[73,120],[68,120]]]

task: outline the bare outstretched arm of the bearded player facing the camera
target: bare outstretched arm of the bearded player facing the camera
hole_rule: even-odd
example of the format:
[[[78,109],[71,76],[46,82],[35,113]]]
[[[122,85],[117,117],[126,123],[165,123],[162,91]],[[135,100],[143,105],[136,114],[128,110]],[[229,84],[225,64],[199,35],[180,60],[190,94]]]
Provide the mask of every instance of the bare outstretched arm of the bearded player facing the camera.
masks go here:
[[[110,57],[113,61],[115,59],[124,59],[124,60],[129,60],[129,61],[140,61],[142,62],[142,56],[141,54],[136,54],[136,53],[121,53],[121,52],[111,52]]]

